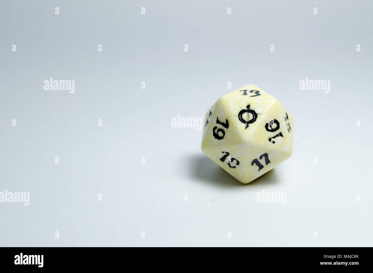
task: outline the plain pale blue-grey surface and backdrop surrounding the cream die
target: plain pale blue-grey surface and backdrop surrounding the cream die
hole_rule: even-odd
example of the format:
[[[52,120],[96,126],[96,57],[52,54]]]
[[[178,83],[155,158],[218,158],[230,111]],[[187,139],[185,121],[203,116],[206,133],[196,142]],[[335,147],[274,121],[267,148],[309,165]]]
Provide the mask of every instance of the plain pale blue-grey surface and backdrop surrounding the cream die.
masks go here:
[[[0,245],[372,246],[370,10],[2,3],[0,191],[28,191],[30,204],[0,203]],[[74,79],[75,93],[44,91],[50,77]],[[300,91],[306,77],[330,80],[330,93]],[[294,116],[294,152],[242,185],[201,152],[202,131],[170,123],[249,83]],[[286,205],[257,203],[262,190],[286,192]]]

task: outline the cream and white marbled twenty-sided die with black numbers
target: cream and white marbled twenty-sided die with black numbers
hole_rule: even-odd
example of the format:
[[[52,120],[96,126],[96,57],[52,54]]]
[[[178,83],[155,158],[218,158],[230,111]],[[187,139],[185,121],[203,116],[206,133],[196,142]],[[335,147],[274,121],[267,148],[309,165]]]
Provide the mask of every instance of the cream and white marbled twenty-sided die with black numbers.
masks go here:
[[[201,149],[242,183],[249,183],[293,151],[293,117],[274,97],[249,84],[207,111]]]

